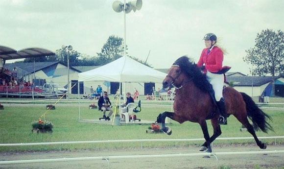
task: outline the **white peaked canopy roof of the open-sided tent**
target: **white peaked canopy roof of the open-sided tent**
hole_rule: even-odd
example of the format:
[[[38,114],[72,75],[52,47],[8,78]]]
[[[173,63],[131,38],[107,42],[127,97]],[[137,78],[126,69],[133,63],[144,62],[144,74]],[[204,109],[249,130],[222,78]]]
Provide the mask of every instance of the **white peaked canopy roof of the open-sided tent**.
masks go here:
[[[78,73],[78,81],[162,83],[166,73],[154,70],[130,57],[123,56],[99,68]]]

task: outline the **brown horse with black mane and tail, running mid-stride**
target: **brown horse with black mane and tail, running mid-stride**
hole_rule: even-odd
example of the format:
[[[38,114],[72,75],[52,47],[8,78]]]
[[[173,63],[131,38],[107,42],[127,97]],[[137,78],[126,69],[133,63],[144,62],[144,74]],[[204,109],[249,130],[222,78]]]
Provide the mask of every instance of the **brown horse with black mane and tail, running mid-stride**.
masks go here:
[[[201,145],[200,151],[212,152],[211,143],[221,135],[221,128],[218,124],[219,110],[215,100],[211,97],[212,86],[207,81],[206,75],[193,64],[187,56],[177,59],[163,81],[163,87],[170,89],[175,87],[175,100],[173,103],[174,112],[164,112],[157,118],[162,123],[162,130],[168,135],[171,134],[170,127],[165,125],[166,117],[183,123],[185,121],[197,122],[201,126],[205,143]],[[272,130],[271,125],[266,121],[271,118],[255,104],[251,97],[245,93],[237,92],[234,88],[225,87],[223,90],[227,115],[233,115],[251,133],[261,149],[266,145],[258,139],[255,129],[261,129],[267,133]],[[252,126],[248,118],[253,122]],[[213,135],[208,133],[206,120],[211,120]]]

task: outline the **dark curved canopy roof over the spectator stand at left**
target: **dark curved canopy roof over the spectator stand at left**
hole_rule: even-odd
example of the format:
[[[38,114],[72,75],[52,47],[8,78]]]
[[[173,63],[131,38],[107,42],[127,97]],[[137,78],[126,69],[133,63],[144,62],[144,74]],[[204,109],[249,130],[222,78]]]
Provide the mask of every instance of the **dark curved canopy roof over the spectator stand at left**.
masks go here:
[[[3,60],[23,59],[51,55],[55,55],[55,53],[44,48],[25,48],[17,51],[13,48],[0,46],[0,58],[2,58]]]

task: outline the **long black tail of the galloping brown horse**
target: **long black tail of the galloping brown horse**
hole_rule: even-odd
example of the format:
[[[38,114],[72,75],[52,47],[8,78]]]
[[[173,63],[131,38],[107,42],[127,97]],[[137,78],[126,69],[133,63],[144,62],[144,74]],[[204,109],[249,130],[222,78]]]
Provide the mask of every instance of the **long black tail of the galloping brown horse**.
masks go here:
[[[247,116],[253,122],[255,129],[260,128],[265,133],[267,133],[267,130],[273,131],[272,126],[267,122],[267,119],[272,120],[271,117],[265,114],[250,96],[242,92],[240,94],[246,104]]]

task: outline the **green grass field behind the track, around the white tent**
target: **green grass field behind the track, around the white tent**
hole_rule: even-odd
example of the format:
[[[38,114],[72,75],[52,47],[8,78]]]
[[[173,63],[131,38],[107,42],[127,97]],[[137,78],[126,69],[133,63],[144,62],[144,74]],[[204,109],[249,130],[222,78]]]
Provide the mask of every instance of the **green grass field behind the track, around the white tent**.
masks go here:
[[[20,100],[20,99],[18,99]],[[270,99],[273,102],[273,98]],[[277,98],[278,100],[278,98]],[[26,101],[23,99],[22,101]],[[88,102],[88,101],[87,101]],[[87,103],[85,102],[85,103]],[[275,101],[278,102],[278,101]],[[26,103],[26,102],[25,102]],[[47,104],[53,103],[49,101]],[[68,102],[70,103],[70,101]],[[89,103],[92,103],[89,100]],[[8,104],[8,103],[6,103]],[[38,142],[62,142],[62,141],[94,141],[94,140],[125,140],[125,139],[190,139],[203,138],[203,134],[199,124],[185,122],[179,124],[172,121],[172,135],[147,134],[145,131],[150,124],[141,125],[119,125],[111,126],[105,124],[78,122],[78,103],[72,100],[73,105],[60,104],[55,105],[55,110],[46,110],[46,104],[22,104],[14,105],[9,103],[4,110],[0,111],[0,143],[38,143]],[[164,112],[170,111],[171,107],[164,105],[150,105],[142,102],[142,112],[138,113],[138,118],[147,121],[156,121],[157,116]],[[263,105],[264,106],[264,105]],[[270,105],[272,106],[272,105]],[[96,109],[89,109],[87,104],[80,106],[81,119],[98,119],[102,113]],[[270,115],[273,121],[269,121],[274,128],[268,133],[257,132],[258,136],[284,136],[284,111],[283,109],[263,109],[265,113]],[[36,134],[31,132],[31,122],[39,120],[44,113],[45,119],[54,124],[53,133]],[[42,117],[44,120],[44,117]],[[248,132],[240,131],[241,124],[235,117],[228,119],[228,125],[222,126],[222,135],[220,137],[251,137]],[[213,129],[210,121],[208,121],[210,135]],[[267,144],[283,144],[284,139],[265,139],[261,140]],[[168,146],[199,146],[203,142],[146,142],[146,147],[168,147]],[[214,144],[255,144],[252,140],[216,140]],[[140,147],[141,143],[111,143],[111,144],[74,144],[61,145],[61,149],[103,149],[103,148],[134,148]],[[255,145],[257,146],[257,145]],[[6,151],[42,151],[42,150],[58,150],[58,145],[37,145],[37,146],[0,146],[1,152]]]

